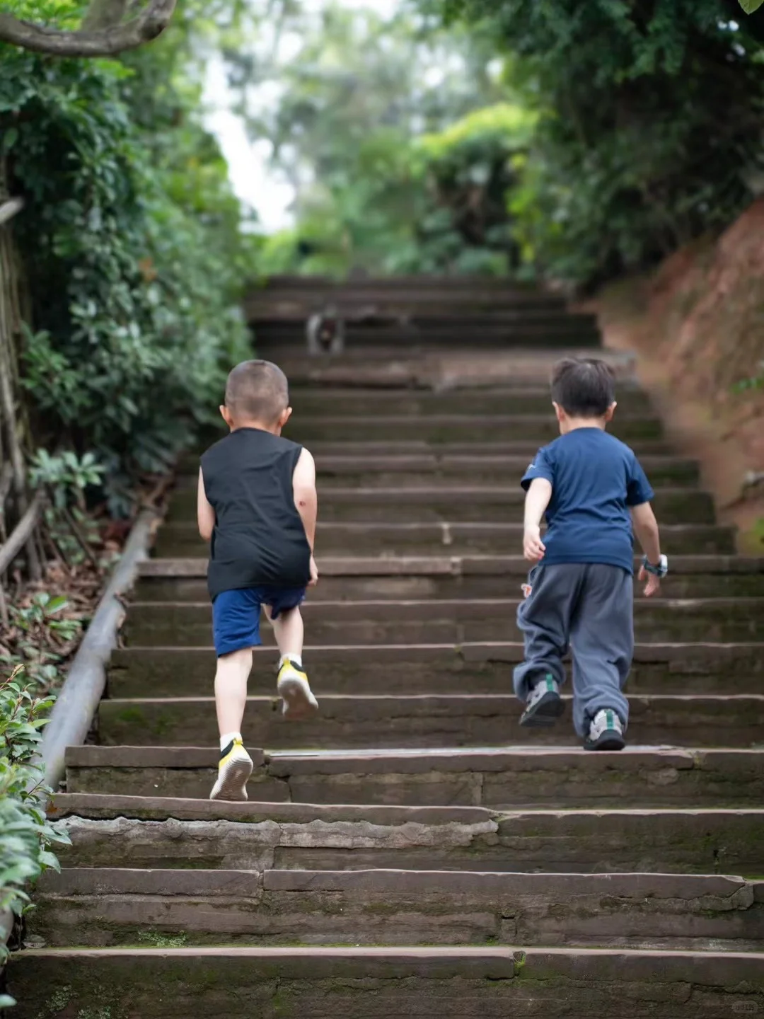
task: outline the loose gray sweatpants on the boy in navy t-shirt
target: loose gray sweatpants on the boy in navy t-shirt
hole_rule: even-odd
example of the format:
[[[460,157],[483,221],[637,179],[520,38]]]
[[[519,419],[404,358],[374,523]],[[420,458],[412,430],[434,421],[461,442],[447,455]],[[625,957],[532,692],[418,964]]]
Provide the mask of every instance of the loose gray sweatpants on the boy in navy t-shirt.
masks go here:
[[[517,609],[526,644],[514,669],[514,692],[528,699],[535,681],[551,673],[562,684],[562,657],[572,657],[574,726],[579,736],[602,708],[625,728],[622,689],[634,654],[634,578],[602,562],[540,564],[531,571],[531,594]]]

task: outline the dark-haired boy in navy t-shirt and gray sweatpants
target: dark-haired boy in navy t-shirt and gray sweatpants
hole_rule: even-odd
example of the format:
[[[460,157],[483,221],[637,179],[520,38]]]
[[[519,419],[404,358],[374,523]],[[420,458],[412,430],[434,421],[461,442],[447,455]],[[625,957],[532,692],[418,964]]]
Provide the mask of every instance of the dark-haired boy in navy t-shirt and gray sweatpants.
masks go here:
[[[653,490],[634,451],[605,431],[615,386],[604,362],[560,362],[552,401],[560,437],[538,451],[522,481],[524,554],[537,566],[517,611],[525,637],[525,660],[514,671],[515,693],[526,703],[521,725],[551,726],[562,714],[569,646],[576,732],[587,750],[622,750],[622,690],[634,652],[633,532],[645,552],[640,580],[648,597],[667,571]]]

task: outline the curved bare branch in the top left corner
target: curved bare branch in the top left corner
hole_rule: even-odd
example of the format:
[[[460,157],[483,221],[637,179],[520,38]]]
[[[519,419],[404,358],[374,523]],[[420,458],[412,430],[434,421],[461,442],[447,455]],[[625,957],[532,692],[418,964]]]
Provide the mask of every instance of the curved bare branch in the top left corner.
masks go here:
[[[97,31],[65,32],[0,13],[0,41],[57,57],[113,57],[138,49],[170,23],[176,0],[151,0],[146,10],[124,24]]]

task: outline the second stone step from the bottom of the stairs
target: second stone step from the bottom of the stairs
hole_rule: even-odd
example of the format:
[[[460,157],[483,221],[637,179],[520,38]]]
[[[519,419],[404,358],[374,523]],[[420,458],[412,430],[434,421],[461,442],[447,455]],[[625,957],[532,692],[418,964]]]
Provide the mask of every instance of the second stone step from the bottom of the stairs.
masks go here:
[[[757,951],[764,881],[675,874],[361,870],[48,871],[47,946],[525,945]]]

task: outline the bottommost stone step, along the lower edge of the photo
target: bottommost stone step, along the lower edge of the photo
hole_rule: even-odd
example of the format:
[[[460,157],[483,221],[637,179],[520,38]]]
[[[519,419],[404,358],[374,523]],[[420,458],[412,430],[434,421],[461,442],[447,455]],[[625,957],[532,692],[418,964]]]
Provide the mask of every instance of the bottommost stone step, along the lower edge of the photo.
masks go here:
[[[54,990],[54,988],[59,988]],[[141,1019],[721,1019],[764,1010],[764,954],[621,949],[38,949],[22,1015]],[[129,1002],[129,1012],[124,1003]]]

